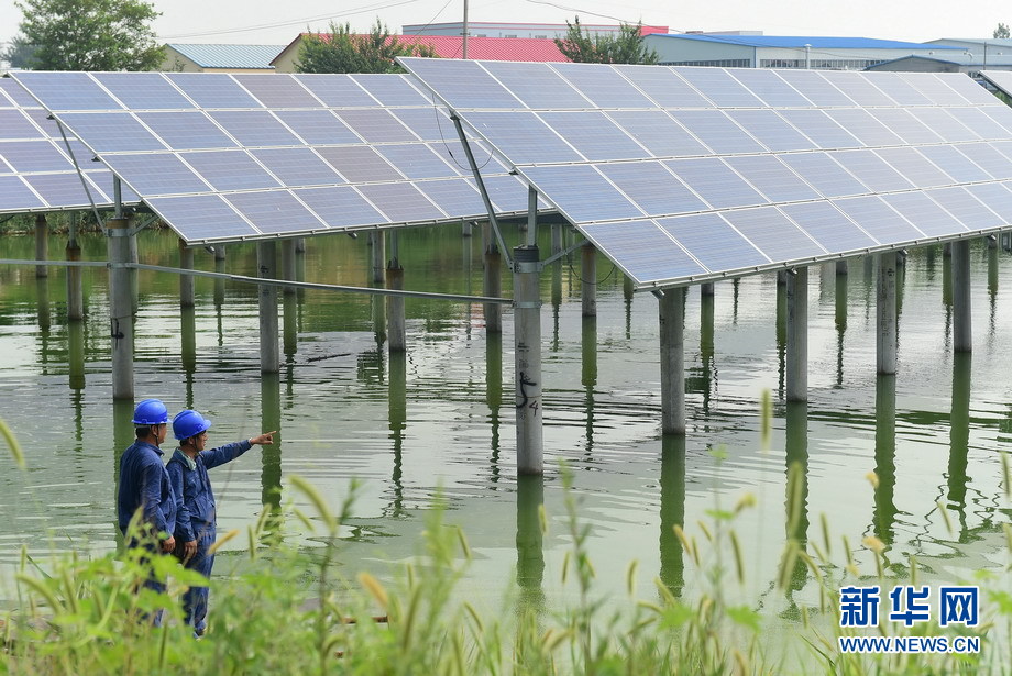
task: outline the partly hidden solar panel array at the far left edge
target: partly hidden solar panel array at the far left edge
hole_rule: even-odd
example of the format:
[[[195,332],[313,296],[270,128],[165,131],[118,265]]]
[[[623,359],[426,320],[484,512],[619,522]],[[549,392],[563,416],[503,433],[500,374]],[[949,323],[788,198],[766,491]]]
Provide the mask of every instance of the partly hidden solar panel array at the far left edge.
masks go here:
[[[112,174],[72,135],[70,148],[91,199],[70,160],[59,126],[14,80],[0,78],[0,213],[112,206]],[[129,191],[124,203],[138,201]]]

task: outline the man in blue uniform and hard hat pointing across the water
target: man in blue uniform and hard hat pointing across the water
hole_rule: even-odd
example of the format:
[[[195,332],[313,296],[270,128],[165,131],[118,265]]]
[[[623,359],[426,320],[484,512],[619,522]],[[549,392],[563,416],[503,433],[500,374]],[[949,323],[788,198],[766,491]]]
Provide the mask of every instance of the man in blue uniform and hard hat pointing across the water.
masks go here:
[[[274,443],[274,434],[265,432],[244,441],[205,451],[207,430],[211,421],[194,410],[184,410],[173,418],[173,434],[179,447],[168,461],[167,470],[176,494],[176,556],[183,564],[207,578],[211,576],[215,555],[217,519],[215,492],[207,470],[229,463],[255,445]],[[207,630],[208,588],[190,587],[183,597],[186,622],[194,633],[204,635]]]

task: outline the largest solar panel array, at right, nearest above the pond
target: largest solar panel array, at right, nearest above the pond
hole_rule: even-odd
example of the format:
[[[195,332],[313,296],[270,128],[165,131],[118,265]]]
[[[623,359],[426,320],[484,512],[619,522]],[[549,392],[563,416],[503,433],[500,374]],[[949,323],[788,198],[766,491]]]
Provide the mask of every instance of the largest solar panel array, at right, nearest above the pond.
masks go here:
[[[961,74],[402,62],[639,288],[1012,222],[1012,110]]]

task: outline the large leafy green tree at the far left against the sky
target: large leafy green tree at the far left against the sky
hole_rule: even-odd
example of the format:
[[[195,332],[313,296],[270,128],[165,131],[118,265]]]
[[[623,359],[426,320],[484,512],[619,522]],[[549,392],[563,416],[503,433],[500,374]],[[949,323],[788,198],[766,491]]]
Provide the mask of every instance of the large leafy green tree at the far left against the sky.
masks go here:
[[[15,0],[21,33],[34,45],[28,66],[41,70],[153,70],[162,47],[151,29],[160,15],[144,0]]]

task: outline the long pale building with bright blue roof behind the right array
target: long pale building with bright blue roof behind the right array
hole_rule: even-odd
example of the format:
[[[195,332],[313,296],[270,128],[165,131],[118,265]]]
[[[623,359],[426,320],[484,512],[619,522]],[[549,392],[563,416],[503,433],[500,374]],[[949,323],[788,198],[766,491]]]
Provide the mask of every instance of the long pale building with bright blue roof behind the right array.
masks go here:
[[[646,41],[662,64],[725,68],[861,70],[906,56],[959,62],[966,54],[948,45],[821,35],[654,33]]]

